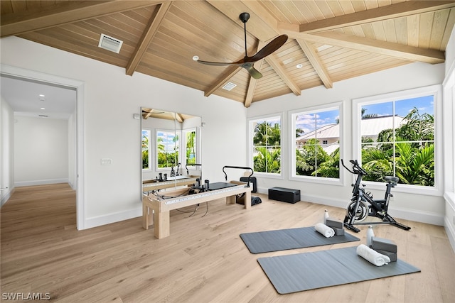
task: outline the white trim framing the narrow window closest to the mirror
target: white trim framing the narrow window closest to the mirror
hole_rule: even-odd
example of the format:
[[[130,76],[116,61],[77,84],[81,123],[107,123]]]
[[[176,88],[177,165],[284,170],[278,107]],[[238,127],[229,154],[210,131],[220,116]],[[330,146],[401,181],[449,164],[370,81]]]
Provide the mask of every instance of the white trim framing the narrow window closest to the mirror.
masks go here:
[[[254,164],[254,161],[253,161],[253,148],[252,148],[252,142],[253,142],[253,137],[255,136],[255,130],[252,129],[251,127],[251,123],[252,121],[257,121],[257,120],[262,120],[262,119],[270,119],[270,118],[274,118],[274,117],[279,117],[279,121],[280,121],[280,131],[281,131],[281,142],[280,142],[280,145],[281,145],[281,161],[280,161],[280,169],[279,169],[279,174],[276,174],[276,173],[272,173],[272,172],[256,172],[255,171],[255,176],[257,177],[264,177],[264,178],[269,178],[269,179],[280,179],[280,180],[284,180],[284,173],[283,173],[283,155],[284,153],[286,152],[286,142],[284,142],[284,136],[283,134],[286,132],[286,130],[284,129],[284,126],[285,126],[285,123],[283,121],[283,113],[275,113],[275,114],[268,114],[268,115],[264,115],[264,116],[255,116],[255,117],[250,117],[248,118],[248,136],[247,136],[247,157],[248,157],[248,165],[250,167],[252,167],[252,169],[254,169],[255,167],[255,164]]]

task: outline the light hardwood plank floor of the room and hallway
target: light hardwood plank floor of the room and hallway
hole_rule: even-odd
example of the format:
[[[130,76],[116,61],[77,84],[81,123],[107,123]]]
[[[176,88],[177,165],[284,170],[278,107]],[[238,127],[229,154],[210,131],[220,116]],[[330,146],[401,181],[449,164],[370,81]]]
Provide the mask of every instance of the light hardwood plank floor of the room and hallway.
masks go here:
[[[1,208],[2,300],[20,293],[49,294],[50,302],[454,302],[455,255],[444,228],[405,220],[411,231],[381,225],[375,236],[393,239],[398,258],[422,272],[278,294],[257,258],[357,246],[366,226],[354,234],[360,243],[254,255],[240,233],[314,226],[323,209],[344,217],[344,209],[259,197],[250,210],[216,200],[205,216],[205,205],[193,216],[172,211],[171,236],[158,240],[141,218],[77,231],[68,184],[18,187]]]

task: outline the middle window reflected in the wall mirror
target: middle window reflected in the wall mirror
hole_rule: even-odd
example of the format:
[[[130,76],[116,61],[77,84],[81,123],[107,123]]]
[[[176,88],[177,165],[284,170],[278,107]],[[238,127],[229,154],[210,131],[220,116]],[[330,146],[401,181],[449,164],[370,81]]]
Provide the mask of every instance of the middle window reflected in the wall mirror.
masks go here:
[[[156,161],[160,168],[170,168],[178,163],[178,133],[156,131]]]

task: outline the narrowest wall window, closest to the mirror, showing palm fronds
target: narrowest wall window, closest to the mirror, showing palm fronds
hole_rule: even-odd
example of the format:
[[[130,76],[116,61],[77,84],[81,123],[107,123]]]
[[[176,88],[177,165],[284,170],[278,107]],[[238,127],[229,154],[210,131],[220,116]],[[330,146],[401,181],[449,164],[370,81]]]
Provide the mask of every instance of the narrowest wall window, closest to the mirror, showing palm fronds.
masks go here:
[[[281,173],[281,117],[250,121],[250,161],[255,172]]]

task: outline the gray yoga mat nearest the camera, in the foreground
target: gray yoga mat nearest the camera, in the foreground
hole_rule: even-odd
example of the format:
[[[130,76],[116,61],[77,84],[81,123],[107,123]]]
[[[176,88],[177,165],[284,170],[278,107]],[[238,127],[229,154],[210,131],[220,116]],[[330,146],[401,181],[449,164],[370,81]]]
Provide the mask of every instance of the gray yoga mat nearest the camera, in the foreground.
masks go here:
[[[257,262],[279,294],[420,271],[402,260],[375,266],[357,255],[356,248],[258,258]]]

